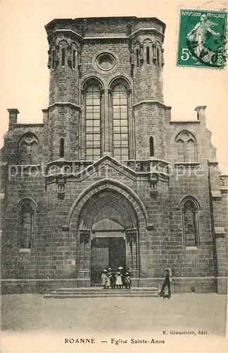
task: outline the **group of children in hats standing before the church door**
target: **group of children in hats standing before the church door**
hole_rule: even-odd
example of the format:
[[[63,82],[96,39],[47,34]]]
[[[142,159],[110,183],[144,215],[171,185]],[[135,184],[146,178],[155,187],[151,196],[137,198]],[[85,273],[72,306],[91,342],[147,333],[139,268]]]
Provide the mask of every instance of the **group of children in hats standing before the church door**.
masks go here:
[[[116,273],[111,268],[108,268],[108,270],[103,270],[101,284],[103,289],[130,289],[132,287],[132,277],[129,271],[125,272],[122,267],[119,267]]]

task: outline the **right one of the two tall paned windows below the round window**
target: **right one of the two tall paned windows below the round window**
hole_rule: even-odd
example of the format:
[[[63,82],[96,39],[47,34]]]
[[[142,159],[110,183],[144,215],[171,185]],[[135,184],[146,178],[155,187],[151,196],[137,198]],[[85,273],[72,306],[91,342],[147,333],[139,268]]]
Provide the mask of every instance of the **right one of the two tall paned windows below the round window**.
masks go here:
[[[128,160],[127,89],[122,84],[113,89],[113,156]]]

